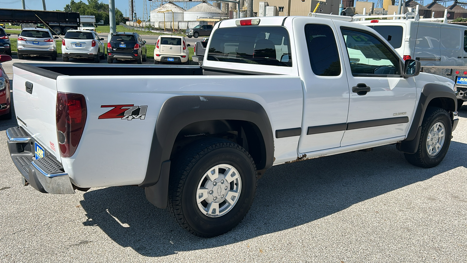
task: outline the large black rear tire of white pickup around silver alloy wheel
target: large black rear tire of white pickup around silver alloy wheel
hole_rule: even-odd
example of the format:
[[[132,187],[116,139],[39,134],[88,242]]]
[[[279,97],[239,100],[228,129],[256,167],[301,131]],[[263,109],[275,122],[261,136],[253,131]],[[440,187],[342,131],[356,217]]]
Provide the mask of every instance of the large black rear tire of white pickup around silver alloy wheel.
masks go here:
[[[223,181],[225,179],[223,174],[219,176],[221,171],[225,173],[227,170],[219,168],[217,179],[213,179],[213,181],[207,179],[208,172],[218,165],[233,167],[234,170],[238,171],[239,176],[229,184],[227,180]],[[234,174],[237,173],[233,171],[231,175]],[[196,141],[187,146],[172,162],[167,209],[177,223],[191,234],[199,237],[218,236],[230,231],[248,213],[255,196],[256,183],[255,163],[243,147],[218,138]],[[212,213],[206,212],[205,209],[210,207],[209,204],[216,203],[213,201],[216,199],[214,199],[212,191],[211,194],[206,192],[206,198],[198,204],[197,196],[201,195],[198,192],[198,187],[201,188],[205,185],[209,189],[210,187],[215,188],[216,184],[221,186],[217,186],[218,190],[214,193],[219,196],[217,204],[221,205],[221,210],[212,210],[217,215],[207,216],[207,214]],[[224,185],[226,188],[223,187]],[[227,190],[227,187],[232,190]],[[235,193],[235,189],[240,194],[231,205],[230,202],[226,202],[227,194]],[[233,200],[234,195],[230,197]],[[210,202],[209,198],[211,198]],[[223,201],[219,202],[219,200]],[[204,212],[202,212],[201,207]]]

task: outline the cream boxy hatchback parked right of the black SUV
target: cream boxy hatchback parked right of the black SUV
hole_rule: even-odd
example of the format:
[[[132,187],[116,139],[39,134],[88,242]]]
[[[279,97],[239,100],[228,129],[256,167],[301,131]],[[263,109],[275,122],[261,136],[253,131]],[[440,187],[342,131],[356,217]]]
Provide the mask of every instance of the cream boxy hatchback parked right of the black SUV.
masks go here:
[[[154,64],[183,63],[188,65],[190,51],[185,37],[159,36],[154,49]]]

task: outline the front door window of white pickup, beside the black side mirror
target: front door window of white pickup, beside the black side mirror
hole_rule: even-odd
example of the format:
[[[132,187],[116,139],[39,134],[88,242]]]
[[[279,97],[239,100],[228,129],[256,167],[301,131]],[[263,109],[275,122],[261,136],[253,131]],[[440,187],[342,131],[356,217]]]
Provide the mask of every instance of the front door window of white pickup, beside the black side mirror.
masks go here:
[[[341,31],[353,76],[400,77],[399,57],[378,37],[355,29]]]

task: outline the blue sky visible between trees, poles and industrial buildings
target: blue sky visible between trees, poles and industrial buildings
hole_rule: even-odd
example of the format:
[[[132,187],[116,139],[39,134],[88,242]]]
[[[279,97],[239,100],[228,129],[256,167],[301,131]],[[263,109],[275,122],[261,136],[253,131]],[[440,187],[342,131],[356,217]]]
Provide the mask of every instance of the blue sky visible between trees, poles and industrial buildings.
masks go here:
[[[78,2],[79,0],[75,0]],[[369,0],[371,2],[377,2],[377,0]],[[87,3],[87,0],[83,0],[83,2]],[[108,3],[108,0],[102,0],[104,3]],[[448,1],[450,3],[452,1]],[[35,10],[42,10],[42,0],[25,0],[26,9],[35,9]],[[63,10],[66,4],[70,3],[70,0],[45,0],[45,5],[47,10]],[[424,4],[428,5],[431,3],[431,0],[424,0]],[[178,5],[183,7],[183,3],[177,3]],[[194,7],[197,2],[192,2],[191,7]],[[135,10],[138,17],[142,17],[143,13],[143,0],[135,0]],[[449,6],[450,4],[448,4]],[[125,10],[128,15],[128,0],[115,0],[115,6],[123,12],[125,15]],[[0,0],[0,8],[13,8],[13,9],[21,9],[21,0]],[[148,9],[149,9],[149,2],[148,2]]]

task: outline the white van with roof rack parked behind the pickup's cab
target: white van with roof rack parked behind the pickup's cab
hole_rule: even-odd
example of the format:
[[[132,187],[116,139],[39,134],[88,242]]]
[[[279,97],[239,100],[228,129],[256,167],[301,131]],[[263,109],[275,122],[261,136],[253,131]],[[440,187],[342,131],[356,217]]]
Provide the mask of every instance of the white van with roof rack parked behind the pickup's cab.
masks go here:
[[[414,19],[356,21],[375,29],[403,59],[422,66],[467,66],[467,26]]]

